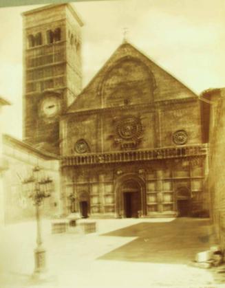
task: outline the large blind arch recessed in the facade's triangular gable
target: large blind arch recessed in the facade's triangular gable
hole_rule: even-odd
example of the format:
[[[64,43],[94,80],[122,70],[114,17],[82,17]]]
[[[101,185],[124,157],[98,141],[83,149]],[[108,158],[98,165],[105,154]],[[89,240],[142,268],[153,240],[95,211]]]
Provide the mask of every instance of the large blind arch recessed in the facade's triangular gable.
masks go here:
[[[140,104],[153,100],[156,79],[139,58],[125,56],[106,71],[98,87],[102,107]]]

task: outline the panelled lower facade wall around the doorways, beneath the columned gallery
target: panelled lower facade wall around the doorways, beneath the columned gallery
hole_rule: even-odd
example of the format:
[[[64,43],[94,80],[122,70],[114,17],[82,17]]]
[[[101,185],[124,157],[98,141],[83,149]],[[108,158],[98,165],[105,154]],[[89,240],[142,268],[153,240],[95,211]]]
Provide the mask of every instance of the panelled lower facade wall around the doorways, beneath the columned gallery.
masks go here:
[[[130,164],[65,167],[63,209],[70,212],[69,195],[76,196],[80,211],[81,195],[87,195],[90,217],[119,217],[124,213],[122,187],[127,181],[140,185],[142,217],[172,217],[179,214],[178,201],[189,198],[189,216],[208,210],[204,187],[205,158],[159,160]],[[131,188],[132,190],[132,188]],[[180,195],[184,193],[184,195]],[[185,193],[187,193],[185,195]]]

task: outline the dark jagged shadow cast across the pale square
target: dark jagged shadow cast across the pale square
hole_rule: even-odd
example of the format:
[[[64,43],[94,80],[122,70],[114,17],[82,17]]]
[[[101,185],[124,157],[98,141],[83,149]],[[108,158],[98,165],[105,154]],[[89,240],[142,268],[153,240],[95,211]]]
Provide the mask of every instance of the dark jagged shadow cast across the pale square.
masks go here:
[[[164,223],[138,223],[102,234],[138,238],[98,259],[191,264],[197,252],[210,247],[208,224],[208,219],[180,218]]]

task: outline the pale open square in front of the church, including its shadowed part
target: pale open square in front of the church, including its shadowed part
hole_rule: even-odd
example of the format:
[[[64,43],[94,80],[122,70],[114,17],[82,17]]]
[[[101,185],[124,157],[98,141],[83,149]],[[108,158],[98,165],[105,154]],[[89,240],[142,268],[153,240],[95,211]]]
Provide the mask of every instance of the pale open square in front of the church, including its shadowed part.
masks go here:
[[[96,220],[92,234],[51,234],[43,221],[48,274],[34,282],[35,222],[1,228],[0,287],[225,287],[225,267],[193,267],[210,247],[207,219]]]

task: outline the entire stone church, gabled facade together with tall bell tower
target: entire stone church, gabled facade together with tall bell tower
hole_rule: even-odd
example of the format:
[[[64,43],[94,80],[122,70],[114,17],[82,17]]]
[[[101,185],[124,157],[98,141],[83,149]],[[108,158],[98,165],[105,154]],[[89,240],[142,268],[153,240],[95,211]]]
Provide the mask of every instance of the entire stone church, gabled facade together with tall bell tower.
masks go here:
[[[24,141],[59,155],[63,213],[206,212],[208,146],[197,95],[126,41],[82,90],[83,22],[72,6],[25,12],[23,23]]]

